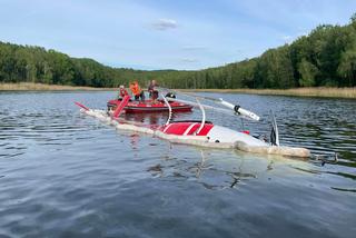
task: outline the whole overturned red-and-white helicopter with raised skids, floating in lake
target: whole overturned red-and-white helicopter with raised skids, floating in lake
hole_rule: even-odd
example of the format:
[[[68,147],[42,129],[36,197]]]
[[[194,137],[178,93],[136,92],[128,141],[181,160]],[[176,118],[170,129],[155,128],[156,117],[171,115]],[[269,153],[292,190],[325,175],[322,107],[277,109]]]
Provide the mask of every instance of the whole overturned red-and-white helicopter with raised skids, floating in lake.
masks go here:
[[[170,90],[169,90],[170,91]],[[167,97],[168,96],[168,97]],[[89,116],[96,117],[101,121],[113,125],[118,129],[131,130],[136,132],[149,133],[155,137],[169,140],[177,143],[186,143],[210,148],[229,148],[238,149],[251,153],[279,155],[287,157],[310,158],[312,153],[305,148],[285,147],[279,145],[279,133],[276,118],[271,112],[271,133],[270,142],[249,135],[248,130],[236,131],[227,127],[221,127],[206,121],[205,109],[216,110],[229,116],[240,116],[251,120],[260,120],[256,113],[241,108],[239,105],[233,105],[224,99],[215,99],[201,96],[188,96],[196,100],[186,101],[172,97],[171,93],[162,96],[165,107],[167,108],[168,119],[165,125],[142,125],[139,122],[127,121],[119,118],[120,111],[128,105],[128,101],[121,101],[117,109],[112,111],[91,110],[83,105],[76,102],[82,108],[82,111]],[[202,105],[201,100],[210,100],[215,103],[224,106],[212,107]],[[201,111],[201,120],[171,121],[172,103],[186,103],[189,107],[198,107]],[[118,112],[119,111],[119,112]]]

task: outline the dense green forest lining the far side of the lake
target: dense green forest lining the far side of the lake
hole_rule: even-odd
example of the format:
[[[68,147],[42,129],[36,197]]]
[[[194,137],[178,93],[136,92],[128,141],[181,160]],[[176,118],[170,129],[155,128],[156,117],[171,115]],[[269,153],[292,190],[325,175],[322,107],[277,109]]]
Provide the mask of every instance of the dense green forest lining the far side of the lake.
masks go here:
[[[323,24],[258,58],[197,71],[117,69],[40,47],[0,42],[0,82],[117,87],[157,79],[170,88],[356,86],[356,14],[347,26]]]

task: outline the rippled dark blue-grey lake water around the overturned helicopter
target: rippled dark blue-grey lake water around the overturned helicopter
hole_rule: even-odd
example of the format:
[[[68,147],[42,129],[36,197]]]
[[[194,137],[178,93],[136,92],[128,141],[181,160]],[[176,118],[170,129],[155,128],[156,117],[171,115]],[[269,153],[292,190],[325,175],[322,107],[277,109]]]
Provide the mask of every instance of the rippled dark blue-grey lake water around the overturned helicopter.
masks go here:
[[[0,93],[0,237],[355,237],[355,100],[207,93],[261,116],[245,122],[253,133],[273,109],[281,143],[338,152],[323,166],[118,131],[73,105],[115,95]]]

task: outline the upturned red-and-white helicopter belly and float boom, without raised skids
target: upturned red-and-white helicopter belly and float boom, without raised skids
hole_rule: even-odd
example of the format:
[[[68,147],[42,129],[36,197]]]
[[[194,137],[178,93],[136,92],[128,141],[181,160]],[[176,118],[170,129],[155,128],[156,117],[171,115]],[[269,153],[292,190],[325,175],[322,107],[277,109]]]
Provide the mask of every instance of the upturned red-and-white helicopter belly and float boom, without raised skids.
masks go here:
[[[279,155],[299,158],[310,157],[310,152],[307,149],[270,146],[269,143],[245,132],[215,126],[211,122],[206,122],[200,131],[195,133],[201,126],[201,122],[199,121],[176,121],[154,127],[136,122],[130,123],[126,120],[120,120],[120,118],[108,116],[103,110],[82,109],[81,111],[99,119],[102,122],[112,125],[117,129],[148,133],[176,143],[220,149],[238,149],[246,152],[263,155]]]

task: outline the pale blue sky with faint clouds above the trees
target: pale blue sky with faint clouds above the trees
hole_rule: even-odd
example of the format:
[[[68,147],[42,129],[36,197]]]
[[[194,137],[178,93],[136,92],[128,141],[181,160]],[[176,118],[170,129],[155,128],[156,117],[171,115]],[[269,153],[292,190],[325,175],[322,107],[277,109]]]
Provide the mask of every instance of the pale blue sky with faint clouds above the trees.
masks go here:
[[[197,70],[346,24],[355,12],[356,0],[0,0],[0,41],[111,67]]]

